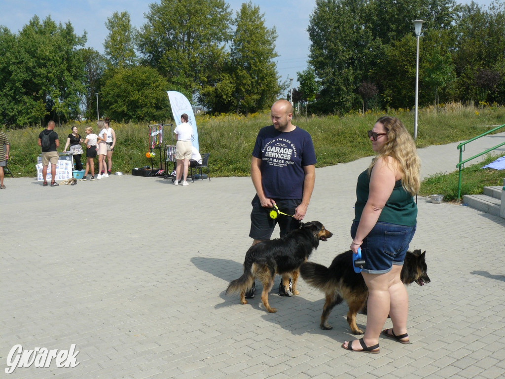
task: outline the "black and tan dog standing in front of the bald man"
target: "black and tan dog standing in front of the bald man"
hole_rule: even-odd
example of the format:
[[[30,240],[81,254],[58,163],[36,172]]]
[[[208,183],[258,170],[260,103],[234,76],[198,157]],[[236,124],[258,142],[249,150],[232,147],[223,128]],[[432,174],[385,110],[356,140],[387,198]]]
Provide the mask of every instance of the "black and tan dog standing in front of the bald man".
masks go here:
[[[275,274],[282,275],[282,283],[287,294],[289,278],[293,279],[292,294],[298,295],[296,283],[300,265],[309,259],[312,251],[317,249],[319,241],[326,241],[333,233],[326,230],[319,221],[300,223],[299,229],[290,231],[282,238],[262,241],[253,245],[245,253],[244,273],[232,280],[226,294],[240,293],[240,304],[247,304],[245,292],[249,290],[255,278],[263,283],[261,301],[267,311],[277,312],[268,303],[268,293],[274,285]],[[289,295],[291,296],[291,295]]]

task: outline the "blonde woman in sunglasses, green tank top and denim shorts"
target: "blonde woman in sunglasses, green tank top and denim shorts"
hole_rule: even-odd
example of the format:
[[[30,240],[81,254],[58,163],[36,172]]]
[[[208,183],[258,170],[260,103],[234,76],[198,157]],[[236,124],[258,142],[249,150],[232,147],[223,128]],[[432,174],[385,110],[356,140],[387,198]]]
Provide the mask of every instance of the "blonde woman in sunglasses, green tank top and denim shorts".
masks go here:
[[[342,347],[377,354],[381,335],[410,343],[409,296],[400,272],[416,232],[421,165],[412,136],[397,118],[379,118],[368,137],[377,155],[358,177],[350,245],[355,254],[361,248],[366,261],[361,275],[369,290],[367,327],[362,339]],[[388,314],[393,327],[382,330]]]

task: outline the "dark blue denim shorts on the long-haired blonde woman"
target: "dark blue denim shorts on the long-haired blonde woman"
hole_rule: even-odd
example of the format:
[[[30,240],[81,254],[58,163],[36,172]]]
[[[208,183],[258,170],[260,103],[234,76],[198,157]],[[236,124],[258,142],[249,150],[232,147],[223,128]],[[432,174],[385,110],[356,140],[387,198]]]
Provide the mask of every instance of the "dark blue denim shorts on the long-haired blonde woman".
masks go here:
[[[355,221],[350,228],[353,239],[357,230],[358,223]],[[389,272],[393,264],[402,265],[415,232],[416,225],[403,226],[378,221],[361,245],[361,257],[366,262],[362,271],[383,274]]]

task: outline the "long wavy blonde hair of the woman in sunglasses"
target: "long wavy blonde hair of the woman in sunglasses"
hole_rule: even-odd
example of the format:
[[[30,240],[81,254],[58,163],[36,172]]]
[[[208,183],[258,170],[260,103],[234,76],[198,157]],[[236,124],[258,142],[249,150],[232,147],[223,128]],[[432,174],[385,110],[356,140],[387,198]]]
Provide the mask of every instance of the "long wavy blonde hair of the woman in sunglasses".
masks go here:
[[[401,185],[409,194],[416,195],[421,185],[421,161],[416,152],[414,139],[396,117],[384,116],[379,118],[377,122],[384,125],[387,142],[372,161],[368,172],[372,171],[377,158],[392,157],[401,171]]]

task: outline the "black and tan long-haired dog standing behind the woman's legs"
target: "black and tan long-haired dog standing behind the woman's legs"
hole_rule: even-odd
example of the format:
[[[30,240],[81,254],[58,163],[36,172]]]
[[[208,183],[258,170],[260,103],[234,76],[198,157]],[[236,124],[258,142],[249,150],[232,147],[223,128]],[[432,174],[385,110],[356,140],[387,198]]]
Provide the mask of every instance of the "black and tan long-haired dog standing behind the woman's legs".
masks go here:
[[[400,273],[403,283],[410,285],[416,282],[419,286],[423,286],[424,283],[430,282],[430,278],[426,273],[425,256],[426,251],[423,253],[421,253],[421,250],[407,252]],[[314,262],[306,262],[300,267],[300,275],[310,286],[326,294],[326,302],[321,314],[321,329],[330,330],[333,328],[328,323],[328,317],[333,307],[345,300],[349,307],[347,322],[352,334],[364,333],[356,325],[356,314],[366,306],[368,288],[363,276],[357,274],[352,267],[352,250],[337,255],[330,267]]]

